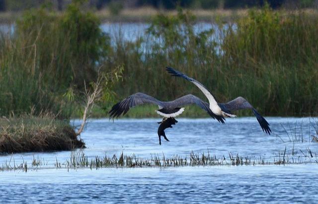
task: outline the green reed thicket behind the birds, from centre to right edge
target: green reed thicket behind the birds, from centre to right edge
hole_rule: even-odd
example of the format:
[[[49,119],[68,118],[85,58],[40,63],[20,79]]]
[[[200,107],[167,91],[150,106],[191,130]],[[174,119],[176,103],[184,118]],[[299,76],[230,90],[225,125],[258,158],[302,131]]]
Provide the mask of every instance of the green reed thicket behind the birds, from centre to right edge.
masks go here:
[[[119,35],[108,66],[123,64],[120,99],[145,92],[161,100],[184,94],[205,99],[191,83],[170,77],[172,66],[202,82],[219,102],[246,98],[267,115],[318,112],[318,13],[250,10],[234,24],[195,32],[195,17],[155,17],[145,35],[125,42]],[[245,114],[245,112],[243,112]]]

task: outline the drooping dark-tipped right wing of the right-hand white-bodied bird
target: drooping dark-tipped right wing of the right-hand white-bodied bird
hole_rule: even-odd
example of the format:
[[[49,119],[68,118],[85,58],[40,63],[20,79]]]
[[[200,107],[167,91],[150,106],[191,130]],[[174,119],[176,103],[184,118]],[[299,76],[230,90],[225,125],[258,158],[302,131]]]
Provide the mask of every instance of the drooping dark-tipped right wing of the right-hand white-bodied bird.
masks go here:
[[[263,132],[266,134],[270,135],[272,132],[271,129],[269,128],[268,122],[265,120],[263,116],[261,116],[257,110],[248,102],[246,99],[243,97],[238,97],[235,100],[232,100],[227,103],[219,103],[219,106],[221,107],[222,111],[225,112],[232,112],[235,110],[241,110],[241,109],[251,109],[260,125],[262,128]]]

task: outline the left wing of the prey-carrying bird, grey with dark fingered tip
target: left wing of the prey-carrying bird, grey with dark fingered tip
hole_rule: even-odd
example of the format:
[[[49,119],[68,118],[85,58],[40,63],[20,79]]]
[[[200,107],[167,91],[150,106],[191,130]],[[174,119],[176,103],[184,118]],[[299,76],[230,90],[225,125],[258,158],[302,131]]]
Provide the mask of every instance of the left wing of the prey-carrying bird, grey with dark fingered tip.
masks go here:
[[[143,93],[136,93],[127,97],[123,101],[113,105],[113,107],[109,111],[109,115],[112,118],[118,117],[121,114],[125,115],[128,112],[129,108],[135,107],[136,105],[141,105],[144,103],[152,103],[152,104],[159,105],[161,107],[163,106],[163,103],[155,99],[154,97],[151,97]]]

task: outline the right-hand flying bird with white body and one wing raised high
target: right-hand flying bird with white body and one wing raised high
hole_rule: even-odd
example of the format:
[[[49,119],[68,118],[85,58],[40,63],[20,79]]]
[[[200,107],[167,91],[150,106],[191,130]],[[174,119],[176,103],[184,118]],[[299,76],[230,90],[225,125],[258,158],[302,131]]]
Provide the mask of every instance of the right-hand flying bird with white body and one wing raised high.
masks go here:
[[[243,97],[238,97],[230,102],[226,103],[218,103],[216,101],[216,98],[211,94],[211,92],[203,86],[200,82],[197,80],[188,77],[187,75],[183,74],[182,72],[179,72],[171,67],[166,67],[166,70],[175,77],[182,77],[190,82],[192,82],[194,85],[196,85],[203,94],[207,97],[209,104],[208,107],[211,110],[211,112],[215,115],[225,117],[236,117],[236,115],[232,114],[232,111],[240,110],[240,109],[251,109],[262,128],[263,132],[270,135],[272,132],[269,128],[269,123],[265,120],[263,116],[261,116],[257,110]]]

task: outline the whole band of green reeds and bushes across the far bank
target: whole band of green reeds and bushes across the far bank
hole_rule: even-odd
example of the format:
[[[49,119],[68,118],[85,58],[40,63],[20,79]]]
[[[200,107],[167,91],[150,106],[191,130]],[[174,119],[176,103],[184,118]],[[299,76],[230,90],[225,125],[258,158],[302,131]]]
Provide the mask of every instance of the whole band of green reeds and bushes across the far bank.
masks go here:
[[[266,4],[233,24],[214,22],[212,29],[197,32],[195,16],[178,8],[177,15],[154,17],[136,41],[122,33],[111,41],[83,5],[75,1],[59,15],[50,8],[31,9],[12,34],[1,35],[1,115],[31,109],[60,118],[80,115],[84,82],[93,83],[98,71],[112,73],[98,115],[106,116],[114,94],[117,100],[136,92],[160,100],[188,93],[205,99],[191,83],[170,77],[165,66],[201,81],[219,102],[242,96],[266,115],[317,114],[316,12],[272,10]],[[124,70],[122,81],[114,85],[118,68]],[[143,109],[131,116],[145,116],[150,108]],[[189,114],[206,116],[197,109]]]

